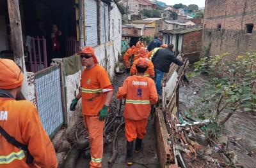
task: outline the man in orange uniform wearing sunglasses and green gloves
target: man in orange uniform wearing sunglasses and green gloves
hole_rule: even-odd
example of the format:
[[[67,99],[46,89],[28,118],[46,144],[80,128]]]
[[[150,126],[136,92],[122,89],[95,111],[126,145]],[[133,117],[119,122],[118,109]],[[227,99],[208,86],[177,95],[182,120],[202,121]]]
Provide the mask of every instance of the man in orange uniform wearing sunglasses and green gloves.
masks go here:
[[[82,66],[86,68],[81,75],[81,91],[70,104],[70,110],[75,110],[77,101],[82,97],[84,126],[90,136],[90,167],[101,167],[104,120],[108,116],[113,87],[108,73],[98,64],[92,47],[86,46],[78,54],[81,57]]]

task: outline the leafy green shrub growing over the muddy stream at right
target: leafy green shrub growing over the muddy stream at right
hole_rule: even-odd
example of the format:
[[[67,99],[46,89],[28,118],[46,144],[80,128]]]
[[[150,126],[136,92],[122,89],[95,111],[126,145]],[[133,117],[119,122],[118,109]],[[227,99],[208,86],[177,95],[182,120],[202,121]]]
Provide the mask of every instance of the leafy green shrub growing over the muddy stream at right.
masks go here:
[[[202,98],[191,108],[190,113],[202,120],[214,120],[214,129],[212,126],[207,130],[211,136],[212,132],[223,130],[222,125],[237,109],[256,114],[256,53],[246,53],[236,59],[230,59],[229,53],[223,53],[204,57],[194,65],[195,69],[189,78],[206,73],[209,83],[202,88]],[[228,111],[228,114],[219,120],[223,111]]]

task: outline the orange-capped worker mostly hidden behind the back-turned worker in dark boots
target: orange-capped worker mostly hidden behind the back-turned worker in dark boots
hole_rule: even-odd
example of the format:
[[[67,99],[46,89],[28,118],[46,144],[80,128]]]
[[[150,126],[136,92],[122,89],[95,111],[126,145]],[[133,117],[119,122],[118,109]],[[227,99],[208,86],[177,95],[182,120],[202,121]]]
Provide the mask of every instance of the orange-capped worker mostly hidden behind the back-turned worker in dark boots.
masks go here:
[[[154,71],[154,65],[152,63],[151,60],[147,59],[147,50],[145,48],[141,48],[138,52],[138,57],[139,58],[145,58],[148,62],[148,69],[147,71],[144,73],[144,76],[148,76],[150,78],[154,78],[155,77],[155,71]],[[138,59],[139,60],[139,59]],[[138,63],[138,60],[134,60],[132,67],[131,67],[131,76],[138,73],[137,69],[136,69],[136,64]]]

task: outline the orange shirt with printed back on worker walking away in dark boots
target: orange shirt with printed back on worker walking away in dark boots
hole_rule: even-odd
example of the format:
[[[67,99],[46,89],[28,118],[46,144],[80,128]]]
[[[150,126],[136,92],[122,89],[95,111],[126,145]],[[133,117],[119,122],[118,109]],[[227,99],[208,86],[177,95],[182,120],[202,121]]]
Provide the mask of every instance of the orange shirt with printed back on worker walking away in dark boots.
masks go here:
[[[119,88],[116,97],[126,99],[124,117],[143,120],[150,115],[150,104],[156,104],[157,92],[154,81],[147,76],[129,76]]]

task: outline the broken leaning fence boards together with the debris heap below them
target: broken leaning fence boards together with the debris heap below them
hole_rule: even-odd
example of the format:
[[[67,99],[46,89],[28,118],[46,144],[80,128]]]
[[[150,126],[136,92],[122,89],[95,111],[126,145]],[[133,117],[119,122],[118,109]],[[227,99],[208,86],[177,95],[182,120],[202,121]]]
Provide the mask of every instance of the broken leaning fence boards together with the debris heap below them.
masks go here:
[[[179,55],[184,65],[171,64],[163,79],[163,117],[168,132],[165,165],[170,167],[243,167],[236,164],[234,151],[228,152],[228,137],[216,141],[205,134],[210,120],[196,121],[182,115],[179,108],[179,87],[184,80],[188,59]],[[170,152],[169,152],[170,151]],[[164,163],[164,162],[163,162]]]

